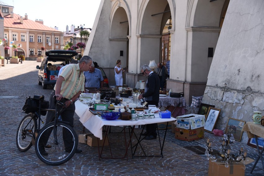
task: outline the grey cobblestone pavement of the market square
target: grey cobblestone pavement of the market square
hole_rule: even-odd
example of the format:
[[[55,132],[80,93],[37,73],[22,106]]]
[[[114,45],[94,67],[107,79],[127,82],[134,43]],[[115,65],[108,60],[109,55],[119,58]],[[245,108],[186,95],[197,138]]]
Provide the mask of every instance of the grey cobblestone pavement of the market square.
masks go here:
[[[46,165],[40,161],[34,147],[27,152],[20,152],[15,143],[16,131],[24,113],[22,106],[28,96],[44,95],[49,100],[52,87],[42,89],[37,83],[36,61],[24,61],[23,64],[6,64],[0,67],[0,175],[208,175],[208,163],[205,155],[198,155],[184,146],[202,146],[207,138],[213,142],[213,147],[218,148],[221,144],[221,137],[205,132],[205,138],[186,142],[174,138],[174,134],[169,130],[165,140],[163,150],[164,158],[161,157],[131,157],[131,151],[125,159],[101,159],[99,161],[98,148],[80,144],[78,148],[82,153],[75,154],[67,163],[59,166]],[[9,96],[9,97],[4,97]],[[197,108],[187,107],[187,114],[196,113]],[[42,117],[45,121],[46,117]],[[77,134],[82,134],[83,126],[79,122],[78,116],[74,116],[74,129]],[[113,127],[111,132],[120,132],[120,127]],[[135,129],[139,133],[140,129]],[[86,130],[86,133],[89,133]],[[160,130],[161,136],[164,130]],[[120,154],[124,144],[123,135],[110,134],[110,144],[112,153]],[[135,142],[135,141],[133,141]],[[159,154],[158,140],[142,141],[142,145],[148,148],[147,154]],[[248,156],[255,159],[257,152],[255,148],[247,144],[235,141],[232,144],[232,151],[237,151],[240,147],[248,151]],[[108,148],[105,148],[105,155]],[[137,154],[142,154],[141,149]],[[250,170],[253,163],[246,166],[245,175],[264,175],[261,162],[259,161],[253,174]]]

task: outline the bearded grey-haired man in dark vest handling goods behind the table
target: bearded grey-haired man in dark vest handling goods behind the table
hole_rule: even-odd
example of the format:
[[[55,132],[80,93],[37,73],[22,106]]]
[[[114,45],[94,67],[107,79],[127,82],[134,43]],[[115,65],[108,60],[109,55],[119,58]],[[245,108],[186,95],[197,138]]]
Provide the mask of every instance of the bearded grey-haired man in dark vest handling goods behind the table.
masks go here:
[[[148,105],[156,105],[158,107],[160,99],[160,79],[159,76],[152,71],[147,65],[140,67],[140,72],[147,77],[145,92],[139,95],[139,99],[145,98]],[[147,136],[146,140],[152,140],[157,138],[156,123],[147,124],[146,132],[143,134]]]

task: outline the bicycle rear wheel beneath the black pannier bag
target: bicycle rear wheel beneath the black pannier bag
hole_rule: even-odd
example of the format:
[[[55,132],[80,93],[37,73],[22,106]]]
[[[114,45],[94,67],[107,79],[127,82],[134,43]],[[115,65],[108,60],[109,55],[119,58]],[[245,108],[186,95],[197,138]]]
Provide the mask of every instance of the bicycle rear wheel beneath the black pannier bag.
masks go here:
[[[20,122],[16,132],[16,146],[21,152],[32,146],[33,133],[37,130],[37,119],[33,114],[26,115]]]

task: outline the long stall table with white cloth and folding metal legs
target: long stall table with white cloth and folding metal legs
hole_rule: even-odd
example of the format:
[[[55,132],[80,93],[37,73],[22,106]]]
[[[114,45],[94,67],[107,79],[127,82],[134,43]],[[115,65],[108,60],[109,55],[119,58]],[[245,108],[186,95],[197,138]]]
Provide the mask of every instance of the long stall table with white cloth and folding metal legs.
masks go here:
[[[75,107],[76,107],[75,112],[80,117],[79,120],[83,124],[83,126],[86,127],[91,133],[93,133],[95,135],[95,137],[98,137],[101,140],[103,139],[103,127],[104,126],[107,126],[107,127],[109,127],[109,126],[110,127],[111,126],[128,126],[128,127],[130,127],[129,130],[131,129],[131,135],[130,135],[129,143],[126,145],[126,152],[125,152],[124,157],[127,155],[129,145],[131,147],[132,157],[136,157],[136,156],[134,156],[134,153],[137,149],[137,146],[140,145],[140,141],[141,141],[140,138],[142,135],[142,131],[144,129],[144,128],[142,129],[139,138],[136,137],[137,144],[134,145],[135,149],[134,149],[134,153],[133,153],[132,145],[131,145],[131,138],[133,136],[134,128],[136,125],[146,125],[146,124],[167,122],[167,126],[168,126],[168,122],[175,120],[174,118],[159,118],[159,114],[155,114],[155,118],[153,118],[153,119],[143,119],[143,120],[137,120],[137,121],[120,120],[120,119],[106,120],[106,119],[102,119],[98,115],[92,114],[89,111],[88,105],[81,103],[81,101],[79,101],[79,100],[76,101]],[[108,128],[106,128],[106,129],[108,129]],[[106,137],[104,138],[104,140],[108,139],[107,131],[105,133]],[[167,132],[167,128],[165,130],[165,135],[164,135],[162,144],[161,144],[161,140],[159,138],[161,153],[158,156],[160,156],[160,157],[163,157],[162,150],[163,150],[163,146],[164,146],[164,142],[165,142],[166,132]],[[124,130],[124,133],[125,133],[125,130]],[[135,133],[134,133],[134,135],[135,135]],[[109,146],[110,146],[110,144],[109,144]],[[99,149],[99,146],[98,146],[98,149]],[[102,147],[102,150],[103,150],[103,147]],[[102,153],[102,150],[101,150],[101,153]],[[154,155],[152,155],[152,156],[154,156]],[[116,157],[116,158],[124,158],[124,157]],[[143,156],[143,157],[146,157],[146,156]],[[100,152],[99,152],[99,158],[102,158]]]

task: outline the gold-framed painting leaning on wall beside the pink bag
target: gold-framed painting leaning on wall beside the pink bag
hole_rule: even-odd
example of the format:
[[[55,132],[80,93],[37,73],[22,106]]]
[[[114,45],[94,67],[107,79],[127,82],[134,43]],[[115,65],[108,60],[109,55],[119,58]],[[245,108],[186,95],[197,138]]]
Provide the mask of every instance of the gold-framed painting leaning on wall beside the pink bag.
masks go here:
[[[243,133],[242,128],[244,127],[245,123],[246,121],[237,120],[235,118],[229,118],[225,134],[231,132],[235,140],[240,141]]]

